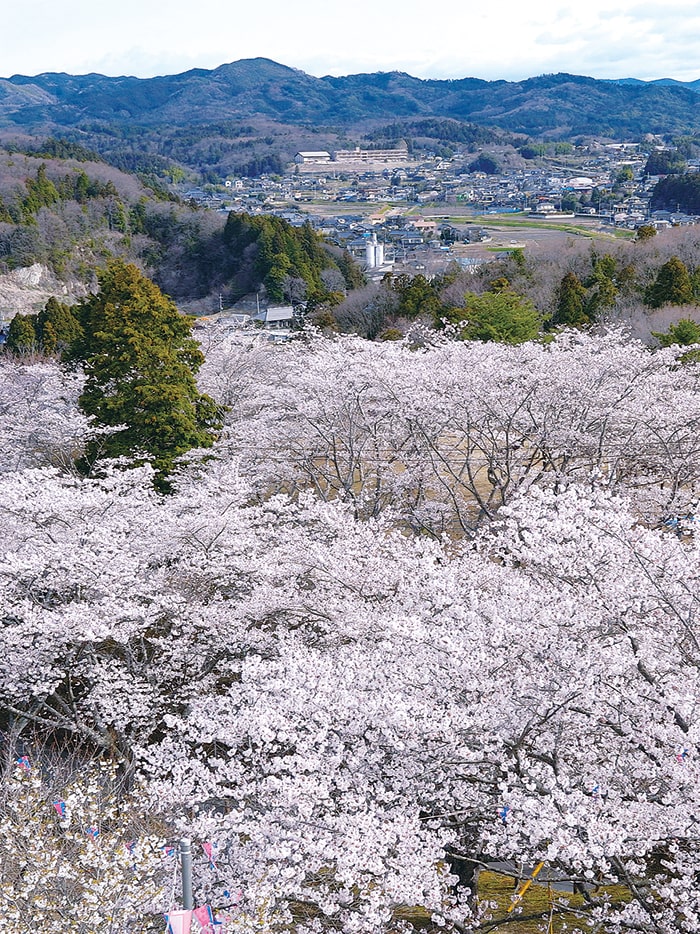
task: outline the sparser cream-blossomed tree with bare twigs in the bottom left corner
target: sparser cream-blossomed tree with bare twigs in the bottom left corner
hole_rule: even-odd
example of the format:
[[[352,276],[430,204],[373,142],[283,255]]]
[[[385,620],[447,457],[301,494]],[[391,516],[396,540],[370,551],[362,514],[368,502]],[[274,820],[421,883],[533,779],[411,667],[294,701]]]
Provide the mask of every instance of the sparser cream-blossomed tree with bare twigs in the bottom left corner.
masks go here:
[[[45,764],[45,762],[44,762]],[[59,768],[60,771],[60,768]],[[108,766],[59,780],[22,756],[3,776],[0,914],[18,934],[161,931],[172,870]]]

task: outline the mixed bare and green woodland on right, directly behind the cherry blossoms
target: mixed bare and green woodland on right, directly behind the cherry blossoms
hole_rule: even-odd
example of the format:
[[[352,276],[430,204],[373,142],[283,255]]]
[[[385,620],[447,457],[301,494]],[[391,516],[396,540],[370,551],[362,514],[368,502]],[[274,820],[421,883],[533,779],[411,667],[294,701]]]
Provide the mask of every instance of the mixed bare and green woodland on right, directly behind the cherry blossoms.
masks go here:
[[[519,343],[561,327],[622,325],[653,342],[682,317],[698,317],[700,233],[642,227],[631,240],[562,242],[513,250],[469,272],[386,276],[327,309],[326,325],[371,340],[400,339],[420,327],[463,339]]]

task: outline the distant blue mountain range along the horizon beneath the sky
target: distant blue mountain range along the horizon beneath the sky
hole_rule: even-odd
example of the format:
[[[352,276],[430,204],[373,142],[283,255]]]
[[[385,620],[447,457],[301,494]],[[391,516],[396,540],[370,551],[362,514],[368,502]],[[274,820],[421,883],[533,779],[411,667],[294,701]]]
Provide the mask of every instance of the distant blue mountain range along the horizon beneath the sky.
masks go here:
[[[452,118],[532,137],[700,133],[700,81],[597,80],[570,74],[525,81],[423,80],[402,72],[315,78],[256,58],[157,78],[13,75],[0,80],[0,129],[92,132],[267,120],[354,128]]]

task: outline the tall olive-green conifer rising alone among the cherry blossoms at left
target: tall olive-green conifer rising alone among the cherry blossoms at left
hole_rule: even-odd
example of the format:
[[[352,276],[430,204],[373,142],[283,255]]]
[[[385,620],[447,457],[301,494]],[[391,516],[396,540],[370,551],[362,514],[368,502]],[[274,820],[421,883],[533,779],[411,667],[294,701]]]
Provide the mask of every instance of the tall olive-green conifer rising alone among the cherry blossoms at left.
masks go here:
[[[115,430],[89,445],[86,461],[150,462],[168,491],[177,458],[210,447],[221,427],[216,403],[195,381],[204,356],[188,318],[135,266],[115,260],[98,278],[97,295],[77,307],[83,334],[73,357],[86,375],[80,407]]]

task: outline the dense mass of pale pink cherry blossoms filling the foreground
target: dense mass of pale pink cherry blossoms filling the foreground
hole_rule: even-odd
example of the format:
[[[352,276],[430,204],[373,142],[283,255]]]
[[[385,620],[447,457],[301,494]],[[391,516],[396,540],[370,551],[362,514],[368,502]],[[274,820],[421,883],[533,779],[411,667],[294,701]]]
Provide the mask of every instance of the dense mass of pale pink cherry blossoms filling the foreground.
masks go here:
[[[586,909],[611,929],[693,930],[692,543],[571,487],[455,549],[309,495],[249,505],[233,471],[166,502],[138,472],[15,479],[16,723],[121,752],[218,844],[201,900],[270,929],[380,930],[399,905],[469,927],[450,847],[624,884],[633,907]]]

